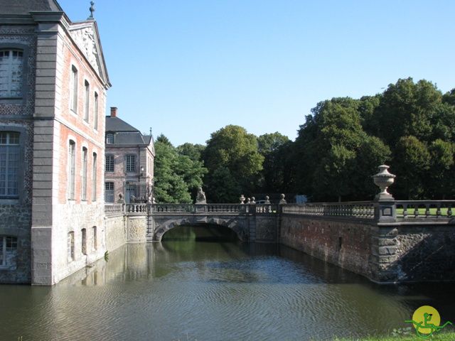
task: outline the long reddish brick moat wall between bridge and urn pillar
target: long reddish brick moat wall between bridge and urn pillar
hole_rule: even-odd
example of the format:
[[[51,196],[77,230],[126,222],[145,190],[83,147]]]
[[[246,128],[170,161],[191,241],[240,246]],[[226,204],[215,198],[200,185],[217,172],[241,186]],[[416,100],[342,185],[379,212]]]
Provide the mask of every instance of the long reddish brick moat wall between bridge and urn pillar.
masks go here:
[[[368,222],[282,215],[279,242],[371,278],[372,229]]]

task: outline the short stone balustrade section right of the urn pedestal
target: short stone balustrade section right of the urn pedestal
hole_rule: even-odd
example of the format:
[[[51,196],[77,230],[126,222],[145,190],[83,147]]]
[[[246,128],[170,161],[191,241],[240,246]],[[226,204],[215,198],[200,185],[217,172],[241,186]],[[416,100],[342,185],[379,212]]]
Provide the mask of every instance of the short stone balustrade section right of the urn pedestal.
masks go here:
[[[451,219],[454,217],[455,200],[396,200],[397,218],[402,219]]]

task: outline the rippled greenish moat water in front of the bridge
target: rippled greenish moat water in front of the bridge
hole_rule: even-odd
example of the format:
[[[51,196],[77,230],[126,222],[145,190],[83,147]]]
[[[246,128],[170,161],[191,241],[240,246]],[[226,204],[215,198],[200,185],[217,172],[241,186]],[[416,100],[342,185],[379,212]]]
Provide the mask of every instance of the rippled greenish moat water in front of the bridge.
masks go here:
[[[0,286],[0,340],[333,340],[407,328],[420,305],[455,322],[453,284],[378,286],[287,247],[178,233],[53,287]]]

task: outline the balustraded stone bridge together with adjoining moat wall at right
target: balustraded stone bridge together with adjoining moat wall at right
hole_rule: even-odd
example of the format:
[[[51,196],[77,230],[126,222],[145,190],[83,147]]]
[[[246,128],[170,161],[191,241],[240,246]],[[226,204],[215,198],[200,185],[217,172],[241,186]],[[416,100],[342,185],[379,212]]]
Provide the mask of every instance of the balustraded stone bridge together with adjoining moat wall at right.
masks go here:
[[[115,248],[161,241],[183,224],[216,224],[244,242],[284,244],[380,283],[455,281],[454,206],[454,200],[112,204],[105,206],[106,234]]]

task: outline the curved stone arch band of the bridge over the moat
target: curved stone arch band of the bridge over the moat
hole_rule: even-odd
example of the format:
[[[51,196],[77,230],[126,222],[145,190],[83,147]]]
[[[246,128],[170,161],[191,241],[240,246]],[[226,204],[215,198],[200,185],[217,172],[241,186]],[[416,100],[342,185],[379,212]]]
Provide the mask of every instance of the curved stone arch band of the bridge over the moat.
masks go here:
[[[212,224],[222,227],[228,227],[237,234],[237,238],[241,242],[248,240],[248,232],[245,227],[242,226],[237,220],[232,218],[218,218],[213,217],[210,219],[194,219],[193,217],[184,217],[184,218],[172,218],[165,220],[164,222],[159,222],[155,226],[154,240],[161,242],[164,234],[171,229],[182,225],[203,225],[203,224]]]

